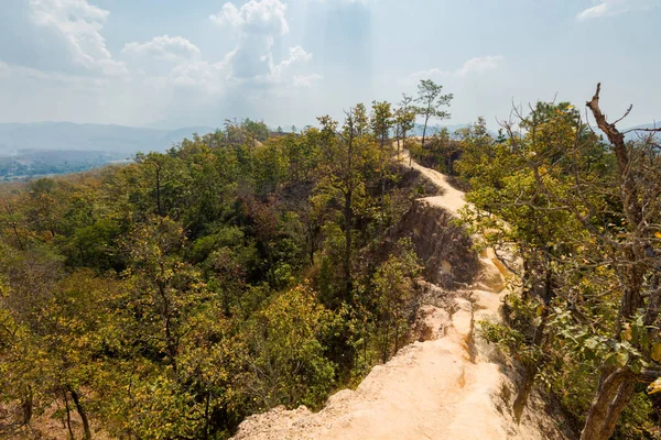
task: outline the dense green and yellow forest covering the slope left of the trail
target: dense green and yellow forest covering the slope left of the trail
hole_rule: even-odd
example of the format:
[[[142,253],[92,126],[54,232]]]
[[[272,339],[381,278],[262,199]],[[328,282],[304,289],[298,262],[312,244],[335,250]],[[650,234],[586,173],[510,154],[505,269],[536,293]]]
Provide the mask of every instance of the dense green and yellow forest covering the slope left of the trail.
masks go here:
[[[395,351],[414,253],[400,243],[378,267],[361,253],[413,189],[399,184],[390,103],[371,110],[275,136],[226,121],[7,193],[0,396],[18,424],[77,413],[120,438],[224,439],[274,405],[318,408]]]

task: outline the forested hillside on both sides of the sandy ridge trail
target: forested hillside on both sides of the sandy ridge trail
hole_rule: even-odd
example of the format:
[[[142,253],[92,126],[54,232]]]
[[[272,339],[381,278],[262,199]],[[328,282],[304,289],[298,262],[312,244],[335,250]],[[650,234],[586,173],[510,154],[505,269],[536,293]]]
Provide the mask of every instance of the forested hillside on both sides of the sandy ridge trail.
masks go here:
[[[430,270],[392,228],[435,195],[415,160],[467,190],[462,228],[512,274],[505,321],[468,327],[521,372],[514,414],[539,389],[583,439],[659,438],[653,129],[626,142],[597,90],[593,125],[540,102],[429,136],[452,99],[424,80],[300,133],[229,123],[0,187],[0,435],[225,439],[357,385],[411,341]]]

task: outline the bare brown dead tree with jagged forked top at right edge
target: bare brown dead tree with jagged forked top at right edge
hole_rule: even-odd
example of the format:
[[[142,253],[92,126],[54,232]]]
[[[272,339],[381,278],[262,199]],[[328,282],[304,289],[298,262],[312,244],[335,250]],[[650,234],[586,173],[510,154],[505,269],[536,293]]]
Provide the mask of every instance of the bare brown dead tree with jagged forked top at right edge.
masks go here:
[[[648,167],[646,170],[655,175],[644,175],[638,167],[643,166],[644,151],[637,150],[626,142],[625,133],[620,132],[616,122],[608,122],[599,108],[599,94],[602,85],[592,100],[586,102],[597,127],[613,145],[617,160],[617,193],[621,202],[627,222],[627,238],[622,243],[622,263],[616,264],[618,277],[621,282],[622,296],[617,317],[615,338],[619,338],[625,323],[630,321],[639,309],[644,310],[644,322],[648,331],[653,332],[653,324],[659,318],[661,289],[659,288],[659,258],[654,250],[654,232],[652,222],[659,219],[660,187],[659,168]],[[647,129],[646,131],[659,132],[661,129]],[[658,164],[654,164],[658,165]],[[651,279],[651,282],[648,282]],[[653,337],[654,334],[650,334]],[[646,358],[649,350],[637,346]],[[651,360],[647,360],[651,361]],[[599,384],[593,399],[585,426],[581,433],[582,440],[607,440],[615,431],[621,411],[633,396],[637,382],[651,382],[659,377],[660,371],[643,370],[636,373],[629,363],[622,366],[604,364],[599,375]]]

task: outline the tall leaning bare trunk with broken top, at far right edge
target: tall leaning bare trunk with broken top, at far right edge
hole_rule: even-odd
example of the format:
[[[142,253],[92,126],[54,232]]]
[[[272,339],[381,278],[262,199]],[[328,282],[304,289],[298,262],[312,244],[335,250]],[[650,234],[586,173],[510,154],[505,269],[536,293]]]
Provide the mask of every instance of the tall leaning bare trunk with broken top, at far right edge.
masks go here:
[[[619,261],[614,264],[621,283],[621,298],[616,320],[615,340],[630,342],[641,354],[608,362],[600,369],[599,383],[585,426],[582,440],[607,440],[613,435],[621,411],[633,397],[638,382],[657,380],[661,385],[658,366],[659,314],[661,310],[661,260],[659,256],[659,226],[661,223],[661,157],[657,142],[638,147],[627,145],[625,133],[616,123],[608,122],[599,108],[602,85],[586,106],[613,145],[617,160],[616,193],[621,204],[622,233],[616,252]],[[631,107],[625,113],[629,114]],[[661,129],[651,129],[659,132]],[[624,240],[622,240],[624,239]],[[636,326],[636,322],[639,324]],[[633,327],[635,332],[630,329]],[[654,367],[655,365],[655,367]],[[647,366],[647,367],[646,367]]]

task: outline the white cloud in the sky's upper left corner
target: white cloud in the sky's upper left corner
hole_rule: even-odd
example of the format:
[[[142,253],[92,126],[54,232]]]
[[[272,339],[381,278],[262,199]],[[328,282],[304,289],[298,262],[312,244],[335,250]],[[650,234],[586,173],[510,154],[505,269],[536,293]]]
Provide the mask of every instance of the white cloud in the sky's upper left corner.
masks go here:
[[[112,58],[101,35],[109,12],[87,0],[29,0],[34,23],[58,34],[73,63],[105,75],[126,75],[126,66]]]

